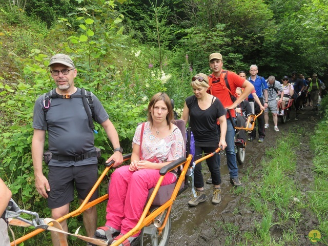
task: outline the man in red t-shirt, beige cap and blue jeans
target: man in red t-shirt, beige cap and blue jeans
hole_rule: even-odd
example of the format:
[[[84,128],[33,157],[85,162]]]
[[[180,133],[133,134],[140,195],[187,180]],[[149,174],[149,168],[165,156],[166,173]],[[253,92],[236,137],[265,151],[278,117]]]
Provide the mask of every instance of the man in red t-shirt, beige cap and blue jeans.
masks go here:
[[[220,53],[210,55],[210,68],[212,74],[209,75],[209,93],[219,98],[223,107],[230,110],[233,120],[235,120],[235,108],[254,90],[254,86],[239,75],[222,70],[223,60]],[[236,88],[244,88],[243,93],[236,99],[234,95]],[[227,134],[226,134],[226,154],[227,164],[230,174],[230,182],[234,186],[241,186],[238,178],[238,167],[236,162],[236,153],[234,145],[235,129],[227,115]],[[218,128],[219,129],[219,128]],[[219,166],[220,166],[220,157]]]

